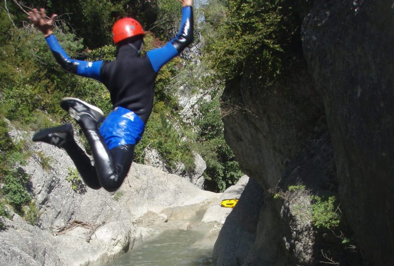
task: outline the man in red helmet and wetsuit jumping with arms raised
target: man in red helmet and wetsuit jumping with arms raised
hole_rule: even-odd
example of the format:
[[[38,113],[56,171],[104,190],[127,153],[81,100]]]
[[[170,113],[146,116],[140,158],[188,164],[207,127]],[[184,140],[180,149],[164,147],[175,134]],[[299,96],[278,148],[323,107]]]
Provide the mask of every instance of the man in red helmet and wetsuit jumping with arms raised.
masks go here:
[[[112,33],[118,53],[115,61],[79,61],[69,58],[53,34],[56,15],[47,18],[45,10],[33,9],[28,17],[45,36],[57,62],[71,73],[94,78],[109,90],[114,109],[104,119],[96,106],[75,98],[62,99],[61,106],[81,126],[93,153],[94,166],[76,144],[70,124],[41,130],[33,141],[65,149],[83,181],[92,189],[116,191],[129,172],[134,146],[141,139],[152,112],[155,79],[159,69],[179,55],[193,41],[193,0],[180,0],[182,20],[179,33],[163,47],[141,56],[141,25],[132,18],[115,22]]]

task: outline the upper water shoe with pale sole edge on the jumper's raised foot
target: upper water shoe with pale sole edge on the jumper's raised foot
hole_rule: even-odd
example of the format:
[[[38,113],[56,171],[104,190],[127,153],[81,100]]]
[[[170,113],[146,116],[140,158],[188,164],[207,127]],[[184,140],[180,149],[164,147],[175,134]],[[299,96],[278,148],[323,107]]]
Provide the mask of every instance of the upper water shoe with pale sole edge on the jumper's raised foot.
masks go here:
[[[97,124],[99,124],[104,119],[104,113],[100,110],[99,107],[91,105],[77,98],[63,98],[60,105],[77,122],[81,120],[81,116],[83,115],[89,115],[97,122]]]

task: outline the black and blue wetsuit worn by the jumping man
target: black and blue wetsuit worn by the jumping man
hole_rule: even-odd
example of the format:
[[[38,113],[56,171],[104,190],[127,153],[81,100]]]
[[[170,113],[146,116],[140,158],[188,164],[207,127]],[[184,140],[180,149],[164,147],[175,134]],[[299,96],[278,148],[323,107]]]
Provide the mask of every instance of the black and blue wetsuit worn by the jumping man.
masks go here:
[[[126,177],[134,145],[140,140],[153,108],[155,79],[160,68],[179,55],[193,40],[193,9],[182,8],[179,33],[163,47],[140,57],[132,43],[119,47],[115,61],[86,62],[70,59],[54,35],[46,37],[57,62],[67,71],[94,78],[109,90],[114,110],[102,123],[89,116],[78,123],[93,153],[95,166],[75,143],[68,139],[62,148],[75,163],[84,182],[93,189],[117,190]]]

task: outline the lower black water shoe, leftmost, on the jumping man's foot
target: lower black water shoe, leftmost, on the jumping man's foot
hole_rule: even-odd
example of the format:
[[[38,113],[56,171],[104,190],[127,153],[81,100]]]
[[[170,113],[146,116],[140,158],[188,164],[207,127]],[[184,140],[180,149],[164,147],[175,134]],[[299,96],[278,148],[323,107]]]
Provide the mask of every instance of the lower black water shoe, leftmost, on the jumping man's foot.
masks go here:
[[[43,129],[33,135],[33,141],[42,141],[61,147],[67,140],[73,139],[74,132],[71,124],[62,125],[55,128]]]

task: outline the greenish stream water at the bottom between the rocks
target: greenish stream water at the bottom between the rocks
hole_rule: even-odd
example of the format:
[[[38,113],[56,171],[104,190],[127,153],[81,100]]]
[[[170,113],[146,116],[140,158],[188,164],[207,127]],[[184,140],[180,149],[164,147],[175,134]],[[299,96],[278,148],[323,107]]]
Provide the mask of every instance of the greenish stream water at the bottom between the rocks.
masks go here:
[[[193,244],[203,233],[194,230],[168,230],[158,238],[143,243],[109,266],[208,266],[212,250],[196,248]]]

